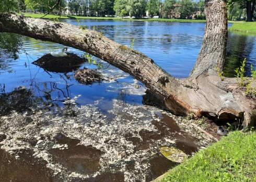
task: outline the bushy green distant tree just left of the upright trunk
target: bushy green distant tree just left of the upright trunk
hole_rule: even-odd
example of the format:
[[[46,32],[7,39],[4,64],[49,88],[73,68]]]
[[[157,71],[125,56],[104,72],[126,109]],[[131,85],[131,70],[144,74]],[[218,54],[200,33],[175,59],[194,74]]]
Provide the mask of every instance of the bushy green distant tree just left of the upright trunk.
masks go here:
[[[181,0],[179,2],[178,12],[181,18],[191,19],[196,11],[196,3],[193,0]]]

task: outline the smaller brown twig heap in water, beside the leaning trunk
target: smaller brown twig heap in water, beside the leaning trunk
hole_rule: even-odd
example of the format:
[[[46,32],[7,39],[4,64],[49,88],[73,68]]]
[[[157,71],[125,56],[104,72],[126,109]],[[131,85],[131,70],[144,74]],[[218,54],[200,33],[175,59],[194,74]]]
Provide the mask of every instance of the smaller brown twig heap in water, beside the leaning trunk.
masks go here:
[[[74,77],[79,83],[85,85],[91,85],[95,82],[100,83],[102,81],[102,76],[97,70],[91,70],[87,68],[78,70]]]

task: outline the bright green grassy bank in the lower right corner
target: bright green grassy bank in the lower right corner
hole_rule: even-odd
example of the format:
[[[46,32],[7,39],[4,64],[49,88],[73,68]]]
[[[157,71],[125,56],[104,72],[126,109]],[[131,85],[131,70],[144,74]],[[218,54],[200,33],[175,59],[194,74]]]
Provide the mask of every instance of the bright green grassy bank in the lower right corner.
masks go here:
[[[161,181],[256,181],[256,132],[232,132]]]

